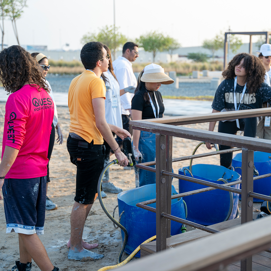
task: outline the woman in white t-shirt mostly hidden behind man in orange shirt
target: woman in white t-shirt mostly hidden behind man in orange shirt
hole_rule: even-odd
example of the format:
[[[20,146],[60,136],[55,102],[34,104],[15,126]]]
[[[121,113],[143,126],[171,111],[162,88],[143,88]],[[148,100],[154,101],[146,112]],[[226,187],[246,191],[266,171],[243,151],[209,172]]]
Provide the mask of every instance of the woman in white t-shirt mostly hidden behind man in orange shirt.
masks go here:
[[[110,59],[111,51],[104,45],[104,49],[107,51],[107,57],[109,58],[108,70],[103,72],[101,78],[104,80],[106,93],[105,93],[105,119],[108,124],[115,125],[116,127],[122,129],[122,117],[121,117],[121,104],[120,96],[126,92],[133,92],[135,88],[128,87],[126,89],[120,90],[120,85],[113,71],[112,61]],[[112,132],[113,136],[115,133]],[[113,151],[109,147],[108,143],[104,141],[105,145],[105,160],[104,165],[107,165],[110,160],[109,157],[113,154]],[[107,194],[105,192],[120,193],[122,189],[115,186],[113,183],[109,182],[109,168],[104,174],[102,179],[102,198],[105,198]],[[105,192],[104,192],[105,191]]]

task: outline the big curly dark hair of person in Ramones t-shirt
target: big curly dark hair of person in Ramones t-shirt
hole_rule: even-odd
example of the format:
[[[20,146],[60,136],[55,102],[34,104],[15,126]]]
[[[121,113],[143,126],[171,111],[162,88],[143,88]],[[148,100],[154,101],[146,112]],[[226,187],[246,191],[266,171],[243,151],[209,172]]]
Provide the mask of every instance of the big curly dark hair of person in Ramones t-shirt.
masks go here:
[[[247,53],[240,53],[233,57],[228,64],[227,69],[222,72],[225,79],[233,79],[235,77],[234,68],[241,60],[244,59],[243,67],[247,73],[247,89],[249,94],[257,92],[264,82],[265,68],[259,58]]]

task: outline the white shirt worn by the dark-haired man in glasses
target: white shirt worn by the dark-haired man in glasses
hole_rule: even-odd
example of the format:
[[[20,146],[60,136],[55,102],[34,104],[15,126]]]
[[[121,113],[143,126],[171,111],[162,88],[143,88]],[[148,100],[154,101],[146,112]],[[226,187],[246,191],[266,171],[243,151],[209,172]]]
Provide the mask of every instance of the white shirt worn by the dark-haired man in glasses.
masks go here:
[[[133,72],[132,63],[128,59],[119,56],[112,64],[114,73],[120,84],[120,89],[127,88],[128,86],[137,87],[137,80]],[[131,109],[133,96],[133,93],[125,93],[120,96],[122,115],[130,115],[130,112],[127,109]]]

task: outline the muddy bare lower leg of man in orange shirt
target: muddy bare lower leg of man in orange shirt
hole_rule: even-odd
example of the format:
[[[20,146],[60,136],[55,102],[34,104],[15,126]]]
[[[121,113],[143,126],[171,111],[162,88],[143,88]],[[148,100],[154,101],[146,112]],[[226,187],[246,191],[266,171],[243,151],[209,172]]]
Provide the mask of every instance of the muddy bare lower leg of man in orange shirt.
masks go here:
[[[70,215],[70,226],[71,226],[70,250],[73,250],[76,253],[84,250],[82,245],[82,235],[85,221],[91,207],[92,204],[87,205],[75,202],[72,208],[72,213]]]

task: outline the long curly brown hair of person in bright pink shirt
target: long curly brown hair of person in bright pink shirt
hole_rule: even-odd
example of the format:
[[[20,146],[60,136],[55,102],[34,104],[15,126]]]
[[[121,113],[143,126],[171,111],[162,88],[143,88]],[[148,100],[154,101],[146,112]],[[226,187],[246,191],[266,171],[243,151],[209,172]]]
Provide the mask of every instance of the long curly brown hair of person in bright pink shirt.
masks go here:
[[[37,85],[38,91],[43,88],[50,92],[37,61],[18,45],[12,45],[1,51],[0,80],[8,93],[19,90],[25,82]]]

